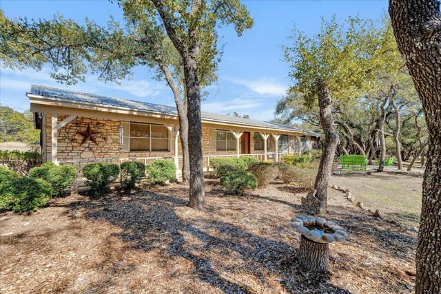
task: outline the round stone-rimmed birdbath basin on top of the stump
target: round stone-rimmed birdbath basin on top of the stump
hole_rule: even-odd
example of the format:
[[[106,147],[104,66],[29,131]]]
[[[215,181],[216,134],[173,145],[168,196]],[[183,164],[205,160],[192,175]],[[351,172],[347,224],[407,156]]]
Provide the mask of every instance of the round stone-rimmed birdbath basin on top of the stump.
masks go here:
[[[319,216],[296,216],[291,218],[291,227],[308,240],[324,244],[345,242],[349,236],[345,228]]]

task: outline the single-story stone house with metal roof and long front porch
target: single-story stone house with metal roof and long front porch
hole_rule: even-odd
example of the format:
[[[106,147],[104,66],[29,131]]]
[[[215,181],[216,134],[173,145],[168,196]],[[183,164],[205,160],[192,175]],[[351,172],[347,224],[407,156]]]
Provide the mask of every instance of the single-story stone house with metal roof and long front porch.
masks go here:
[[[26,94],[41,129],[43,161],[119,163],[170,158],[181,168],[176,107],[32,85]],[[276,160],[312,149],[319,134],[289,125],[202,112],[204,169],[223,156]],[[191,132],[190,126],[189,132]]]

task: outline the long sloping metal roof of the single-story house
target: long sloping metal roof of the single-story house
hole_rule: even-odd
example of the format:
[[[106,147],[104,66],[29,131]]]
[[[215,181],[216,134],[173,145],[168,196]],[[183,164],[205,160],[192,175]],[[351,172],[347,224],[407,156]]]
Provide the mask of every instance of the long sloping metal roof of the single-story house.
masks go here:
[[[177,116],[178,112],[176,107],[160,105],[154,103],[147,103],[141,101],[133,101],[129,99],[116,98],[111,96],[104,96],[99,94],[90,94],[85,92],[77,92],[72,90],[59,89],[57,87],[48,87],[44,85],[32,85],[30,93],[38,96],[43,96],[48,100],[66,101],[71,103],[81,103],[88,105],[100,105],[103,107],[116,107],[122,109],[130,109],[142,112],[153,112],[157,114],[169,114]],[[297,131],[307,133],[311,136],[320,136],[314,132],[305,131],[298,127],[291,125],[279,125],[276,123],[269,123],[263,120],[255,120],[251,118],[241,118],[236,116],[228,116],[225,114],[214,114],[212,112],[201,112],[201,118],[203,121],[216,121],[225,123],[234,123],[237,125],[247,125],[256,127],[270,127],[273,129]]]

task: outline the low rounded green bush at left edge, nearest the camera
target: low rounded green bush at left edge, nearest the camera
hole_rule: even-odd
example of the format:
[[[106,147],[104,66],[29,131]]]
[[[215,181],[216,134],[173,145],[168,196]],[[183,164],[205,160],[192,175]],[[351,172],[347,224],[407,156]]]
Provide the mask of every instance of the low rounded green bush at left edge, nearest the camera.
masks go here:
[[[0,209],[36,211],[48,204],[52,188],[39,178],[12,176],[8,182],[0,184]]]

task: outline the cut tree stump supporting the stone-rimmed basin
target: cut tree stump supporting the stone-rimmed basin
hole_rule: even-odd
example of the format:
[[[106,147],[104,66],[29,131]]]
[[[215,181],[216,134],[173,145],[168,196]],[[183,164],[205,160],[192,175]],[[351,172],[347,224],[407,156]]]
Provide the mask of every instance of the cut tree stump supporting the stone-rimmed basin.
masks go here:
[[[328,270],[329,244],[308,240],[303,235],[298,249],[300,266],[314,273],[323,273]]]

